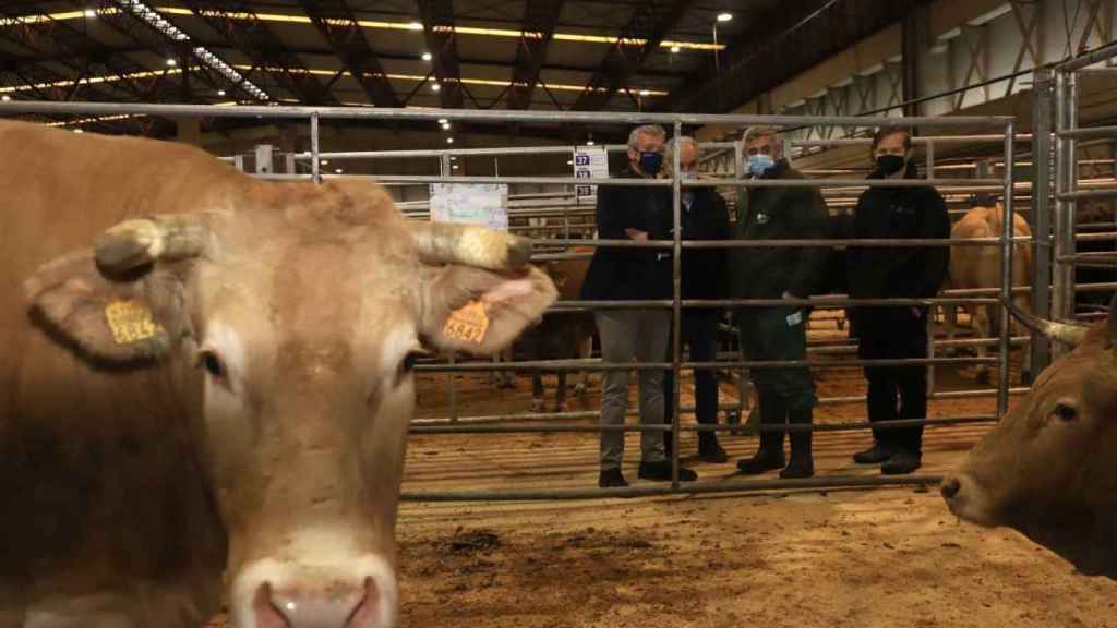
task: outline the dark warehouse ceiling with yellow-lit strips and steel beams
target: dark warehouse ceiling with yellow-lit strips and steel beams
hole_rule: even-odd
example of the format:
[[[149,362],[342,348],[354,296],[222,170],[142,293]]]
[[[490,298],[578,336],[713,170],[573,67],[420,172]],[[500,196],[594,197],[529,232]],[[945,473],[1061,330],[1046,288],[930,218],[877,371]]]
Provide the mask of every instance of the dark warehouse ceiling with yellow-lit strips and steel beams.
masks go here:
[[[903,19],[914,4],[4,0],[0,94],[50,101],[715,113]],[[141,124],[151,134],[173,127],[162,122],[162,127],[153,120],[89,124],[98,130]]]

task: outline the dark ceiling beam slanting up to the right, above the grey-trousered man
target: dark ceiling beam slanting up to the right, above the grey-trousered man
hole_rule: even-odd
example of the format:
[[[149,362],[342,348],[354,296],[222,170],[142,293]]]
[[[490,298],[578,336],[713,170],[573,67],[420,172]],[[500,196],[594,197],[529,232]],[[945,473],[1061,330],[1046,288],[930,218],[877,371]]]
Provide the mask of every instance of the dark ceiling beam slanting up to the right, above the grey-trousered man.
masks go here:
[[[600,110],[618,91],[627,89],[631,77],[640,73],[645,61],[659,49],[663,37],[675,28],[690,4],[689,0],[649,0],[637,4],[621,36],[605,53],[574,108]],[[631,46],[629,41],[632,39],[643,40],[645,44]]]

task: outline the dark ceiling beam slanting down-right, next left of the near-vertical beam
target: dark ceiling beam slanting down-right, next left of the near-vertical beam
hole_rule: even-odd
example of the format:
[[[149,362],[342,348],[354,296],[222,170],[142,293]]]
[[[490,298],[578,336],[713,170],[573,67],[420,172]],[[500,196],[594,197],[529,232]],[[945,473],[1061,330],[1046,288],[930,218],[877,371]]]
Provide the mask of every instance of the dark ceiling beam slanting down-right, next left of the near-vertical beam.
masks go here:
[[[299,6],[369,99],[380,107],[399,107],[392,83],[345,0],[299,0]]]

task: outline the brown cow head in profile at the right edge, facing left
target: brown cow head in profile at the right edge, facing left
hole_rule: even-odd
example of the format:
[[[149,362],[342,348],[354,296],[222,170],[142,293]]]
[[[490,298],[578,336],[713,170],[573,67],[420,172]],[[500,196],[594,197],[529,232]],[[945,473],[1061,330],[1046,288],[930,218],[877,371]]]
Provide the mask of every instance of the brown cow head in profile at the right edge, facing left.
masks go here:
[[[1117,569],[1117,296],[1094,329],[1013,314],[1076,349],[944,478],[957,516],[1014,527],[1083,572]]]

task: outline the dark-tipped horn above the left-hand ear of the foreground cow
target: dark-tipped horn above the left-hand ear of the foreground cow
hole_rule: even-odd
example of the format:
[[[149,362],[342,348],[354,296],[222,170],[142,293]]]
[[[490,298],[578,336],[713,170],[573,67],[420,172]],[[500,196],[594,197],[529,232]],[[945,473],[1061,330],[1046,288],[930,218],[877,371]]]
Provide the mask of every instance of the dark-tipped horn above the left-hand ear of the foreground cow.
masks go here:
[[[94,251],[102,270],[126,273],[160,259],[198,256],[208,235],[206,225],[189,215],[125,220],[101,234]]]

